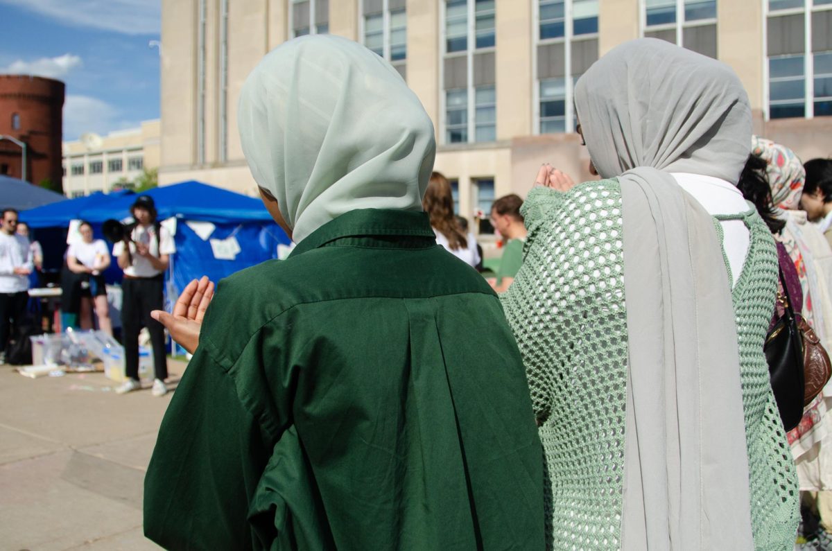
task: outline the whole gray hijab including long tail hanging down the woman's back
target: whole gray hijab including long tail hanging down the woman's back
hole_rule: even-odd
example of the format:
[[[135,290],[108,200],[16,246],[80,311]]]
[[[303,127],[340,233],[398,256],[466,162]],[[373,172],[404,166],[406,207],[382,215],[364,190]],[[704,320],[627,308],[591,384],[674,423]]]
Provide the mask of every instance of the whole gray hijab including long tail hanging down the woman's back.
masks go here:
[[[713,219],[669,174],[735,183],[748,98],[723,63],[645,38],[592,65],[575,103],[599,174],[622,186],[622,548],[753,549],[730,281]]]

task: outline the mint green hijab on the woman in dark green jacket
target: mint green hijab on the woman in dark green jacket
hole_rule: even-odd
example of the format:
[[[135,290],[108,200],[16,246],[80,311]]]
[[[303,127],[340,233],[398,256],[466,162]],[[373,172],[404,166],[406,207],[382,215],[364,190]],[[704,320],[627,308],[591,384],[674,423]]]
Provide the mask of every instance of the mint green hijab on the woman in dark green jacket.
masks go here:
[[[388,62],[342,37],[276,47],[240,92],[245,160],[302,241],[362,208],[421,211],[433,123]]]

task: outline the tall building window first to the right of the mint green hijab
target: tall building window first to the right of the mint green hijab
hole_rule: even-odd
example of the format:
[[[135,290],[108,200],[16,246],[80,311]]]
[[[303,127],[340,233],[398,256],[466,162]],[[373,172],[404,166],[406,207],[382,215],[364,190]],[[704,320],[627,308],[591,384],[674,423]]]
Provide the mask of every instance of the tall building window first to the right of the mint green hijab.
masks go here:
[[[442,59],[446,143],[497,139],[493,0],[446,0]]]

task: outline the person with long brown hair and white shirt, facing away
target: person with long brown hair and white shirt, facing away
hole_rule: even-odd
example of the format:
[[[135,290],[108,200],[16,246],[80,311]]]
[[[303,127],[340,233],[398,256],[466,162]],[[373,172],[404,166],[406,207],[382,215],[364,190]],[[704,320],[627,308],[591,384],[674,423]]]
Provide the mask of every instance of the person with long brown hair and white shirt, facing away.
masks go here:
[[[436,234],[436,242],[472,268],[479,264],[477,239],[473,233],[465,234],[453,215],[453,194],[448,178],[441,172],[433,172],[422,200],[424,211],[430,216],[430,226]]]

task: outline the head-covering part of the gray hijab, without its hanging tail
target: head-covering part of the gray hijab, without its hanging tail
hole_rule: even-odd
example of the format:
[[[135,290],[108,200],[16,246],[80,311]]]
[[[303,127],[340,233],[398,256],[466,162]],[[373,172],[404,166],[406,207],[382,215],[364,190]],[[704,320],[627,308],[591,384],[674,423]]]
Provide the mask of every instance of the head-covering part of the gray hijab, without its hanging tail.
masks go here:
[[[575,107],[604,178],[651,166],[736,183],[751,150],[751,109],[736,73],[656,38],[595,62],[578,79]]]

